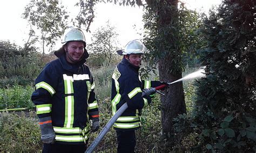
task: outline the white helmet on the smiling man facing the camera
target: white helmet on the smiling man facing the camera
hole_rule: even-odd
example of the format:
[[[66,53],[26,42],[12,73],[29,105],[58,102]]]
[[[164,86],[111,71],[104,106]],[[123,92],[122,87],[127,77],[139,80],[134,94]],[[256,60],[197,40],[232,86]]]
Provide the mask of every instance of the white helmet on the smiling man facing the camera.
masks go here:
[[[84,45],[86,45],[84,33],[77,27],[70,27],[69,29],[65,30],[62,36],[62,45],[65,45],[69,41],[83,41]]]

